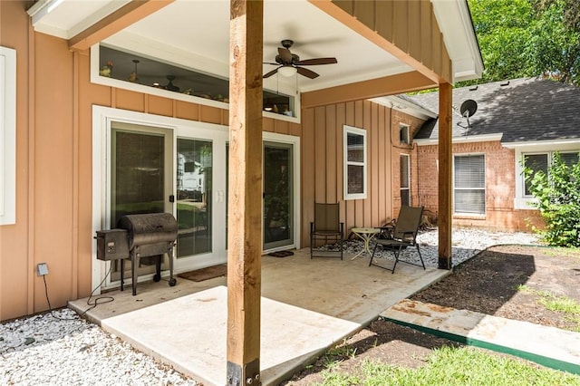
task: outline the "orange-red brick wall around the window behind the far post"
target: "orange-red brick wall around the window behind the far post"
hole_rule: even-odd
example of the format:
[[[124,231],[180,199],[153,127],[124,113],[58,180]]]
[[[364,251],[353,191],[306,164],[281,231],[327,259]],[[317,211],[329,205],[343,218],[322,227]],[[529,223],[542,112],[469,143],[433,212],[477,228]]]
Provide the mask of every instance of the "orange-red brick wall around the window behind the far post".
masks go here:
[[[499,141],[455,143],[453,154],[485,154],[486,214],[453,216],[453,225],[484,227],[491,230],[530,231],[527,224],[541,226],[536,210],[514,208],[516,197],[515,151],[501,146]],[[432,221],[438,217],[438,146],[419,146],[420,164],[416,177],[418,201],[425,206]]]

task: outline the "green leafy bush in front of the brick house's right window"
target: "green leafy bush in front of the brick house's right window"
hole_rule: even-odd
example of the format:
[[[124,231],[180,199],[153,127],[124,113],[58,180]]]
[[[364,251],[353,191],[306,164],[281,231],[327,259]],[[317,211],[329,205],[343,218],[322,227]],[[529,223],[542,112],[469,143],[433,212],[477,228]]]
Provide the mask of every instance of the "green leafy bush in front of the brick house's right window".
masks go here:
[[[534,230],[551,246],[580,246],[580,162],[569,167],[556,153],[547,175],[529,168],[524,175],[536,198],[530,205],[546,223]]]

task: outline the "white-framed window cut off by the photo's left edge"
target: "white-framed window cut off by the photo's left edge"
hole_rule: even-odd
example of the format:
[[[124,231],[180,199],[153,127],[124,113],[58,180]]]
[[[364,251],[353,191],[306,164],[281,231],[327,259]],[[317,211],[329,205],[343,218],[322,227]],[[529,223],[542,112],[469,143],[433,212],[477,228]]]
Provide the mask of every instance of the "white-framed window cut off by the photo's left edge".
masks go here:
[[[16,50],[0,47],[0,226],[16,223]]]

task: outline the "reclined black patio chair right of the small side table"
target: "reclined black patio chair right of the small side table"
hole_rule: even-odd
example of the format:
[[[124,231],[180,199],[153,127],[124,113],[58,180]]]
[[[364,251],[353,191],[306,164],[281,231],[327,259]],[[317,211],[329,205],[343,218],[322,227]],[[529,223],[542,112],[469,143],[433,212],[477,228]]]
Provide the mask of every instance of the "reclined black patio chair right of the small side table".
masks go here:
[[[401,207],[401,211],[399,212],[399,217],[397,217],[395,227],[392,230],[392,238],[390,239],[378,238],[375,240],[376,244],[374,245],[374,249],[372,249],[372,256],[371,261],[369,262],[369,266],[371,265],[378,266],[380,268],[391,271],[392,274],[395,273],[395,267],[397,266],[397,263],[399,263],[399,261],[401,261],[401,263],[422,266],[423,269],[425,269],[423,257],[420,256],[419,244],[417,244],[417,233],[419,232],[419,226],[422,216],[423,216],[423,207],[409,207],[403,205]],[[407,246],[415,246],[417,248],[417,253],[419,253],[420,258],[420,265],[413,263],[411,261],[399,259],[399,256],[401,256],[401,251],[405,249]],[[381,247],[382,249],[390,250],[394,255],[395,262],[392,265],[392,268],[388,268],[383,265],[373,263],[374,254],[376,253],[377,248],[379,247]]]

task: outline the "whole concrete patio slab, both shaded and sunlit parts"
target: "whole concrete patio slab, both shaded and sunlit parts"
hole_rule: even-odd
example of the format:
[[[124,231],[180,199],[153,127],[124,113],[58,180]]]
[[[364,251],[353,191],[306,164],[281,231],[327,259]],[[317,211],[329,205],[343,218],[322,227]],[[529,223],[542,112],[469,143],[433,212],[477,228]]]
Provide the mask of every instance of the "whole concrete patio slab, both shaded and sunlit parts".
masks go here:
[[[277,384],[340,343],[379,314],[449,271],[400,264],[394,274],[351,260],[294,256],[262,257],[261,376]],[[389,263],[389,262],[385,262]],[[71,307],[143,352],[169,362],[206,385],[226,383],[227,278],[190,282],[178,278],[142,283],[107,293],[114,301],[86,311],[87,299]]]

